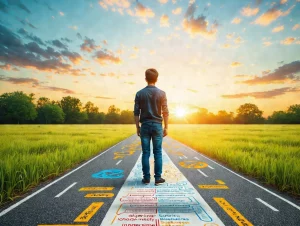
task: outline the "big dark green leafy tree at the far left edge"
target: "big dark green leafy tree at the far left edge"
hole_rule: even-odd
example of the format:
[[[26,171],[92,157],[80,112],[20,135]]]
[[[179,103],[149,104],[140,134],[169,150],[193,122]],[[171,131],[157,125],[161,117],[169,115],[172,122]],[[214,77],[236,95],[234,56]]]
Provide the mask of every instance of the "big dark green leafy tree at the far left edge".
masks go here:
[[[33,95],[26,95],[22,91],[4,93],[0,96],[1,123],[24,123],[34,120],[37,112],[33,102]]]

